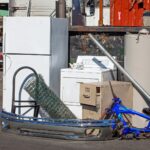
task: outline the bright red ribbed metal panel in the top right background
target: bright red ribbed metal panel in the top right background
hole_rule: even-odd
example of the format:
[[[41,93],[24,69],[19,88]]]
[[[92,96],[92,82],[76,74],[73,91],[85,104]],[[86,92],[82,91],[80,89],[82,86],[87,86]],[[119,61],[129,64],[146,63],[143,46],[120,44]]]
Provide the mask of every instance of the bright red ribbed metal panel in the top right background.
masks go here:
[[[111,26],[142,26],[143,13],[150,10],[150,0],[137,1],[131,7],[133,0],[110,0]]]

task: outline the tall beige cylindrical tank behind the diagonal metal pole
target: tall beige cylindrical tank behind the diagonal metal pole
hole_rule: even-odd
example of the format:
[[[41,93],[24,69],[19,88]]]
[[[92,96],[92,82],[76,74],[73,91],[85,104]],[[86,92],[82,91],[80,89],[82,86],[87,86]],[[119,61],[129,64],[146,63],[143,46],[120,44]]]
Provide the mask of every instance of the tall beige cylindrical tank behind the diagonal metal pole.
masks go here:
[[[125,35],[125,55],[124,65],[128,73],[150,94],[149,75],[150,69],[150,34],[143,29],[139,34]],[[140,61],[139,61],[140,60]],[[149,107],[145,99],[139,92],[133,90],[133,109],[142,112],[143,108]],[[132,124],[138,128],[143,128],[147,120],[134,116]]]

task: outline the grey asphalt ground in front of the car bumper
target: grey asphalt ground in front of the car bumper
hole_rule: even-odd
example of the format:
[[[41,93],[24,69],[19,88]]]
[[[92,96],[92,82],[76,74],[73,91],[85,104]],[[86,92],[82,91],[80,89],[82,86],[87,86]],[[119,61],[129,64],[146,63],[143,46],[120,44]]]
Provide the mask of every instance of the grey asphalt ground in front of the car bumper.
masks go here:
[[[2,72],[0,72],[0,106],[2,106]],[[148,140],[65,141],[21,136],[0,132],[0,150],[149,150]]]

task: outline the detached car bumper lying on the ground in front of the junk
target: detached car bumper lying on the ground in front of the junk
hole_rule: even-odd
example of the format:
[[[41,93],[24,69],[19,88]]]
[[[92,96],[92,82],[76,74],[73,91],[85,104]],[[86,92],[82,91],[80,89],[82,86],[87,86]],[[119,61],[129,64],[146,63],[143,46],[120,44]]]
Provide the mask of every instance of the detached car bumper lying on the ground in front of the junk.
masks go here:
[[[108,140],[112,139],[110,126],[113,120],[78,120],[34,118],[0,112],[3,130],[19,130],[21,135],[59,138],[66,140]],[[97,135],[87,133],[98,129]]]

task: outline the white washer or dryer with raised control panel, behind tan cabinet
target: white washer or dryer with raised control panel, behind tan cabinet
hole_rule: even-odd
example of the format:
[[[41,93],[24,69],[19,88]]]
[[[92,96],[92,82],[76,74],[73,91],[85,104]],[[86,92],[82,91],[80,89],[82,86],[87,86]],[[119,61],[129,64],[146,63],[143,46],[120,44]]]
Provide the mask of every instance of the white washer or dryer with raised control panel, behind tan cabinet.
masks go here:
[[[96,58],[102,67],[97,65],[93,58]],[[80,83],[115,80],[117,73],[114,64],[105,56],[78,56],[77,64],[82,64],[84,69],[61,69],[60,97],[76,117],[82,119]]]

